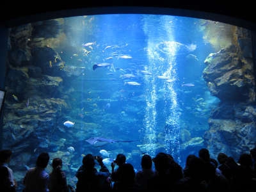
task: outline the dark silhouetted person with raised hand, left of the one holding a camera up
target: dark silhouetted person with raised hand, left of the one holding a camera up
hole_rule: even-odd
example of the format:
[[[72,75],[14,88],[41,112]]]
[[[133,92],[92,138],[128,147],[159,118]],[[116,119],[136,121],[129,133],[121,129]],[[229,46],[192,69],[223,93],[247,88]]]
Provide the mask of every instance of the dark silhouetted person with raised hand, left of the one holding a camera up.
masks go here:
[[[95,168],[95,160],[100,165],[100,170]],[[77,184],[76,192],[80,191],[97,191],[110,189],[109,170],[102,162],[102,157],[97,156],[95,159],[92,154],[83,157],[83,164],[76,172]]]

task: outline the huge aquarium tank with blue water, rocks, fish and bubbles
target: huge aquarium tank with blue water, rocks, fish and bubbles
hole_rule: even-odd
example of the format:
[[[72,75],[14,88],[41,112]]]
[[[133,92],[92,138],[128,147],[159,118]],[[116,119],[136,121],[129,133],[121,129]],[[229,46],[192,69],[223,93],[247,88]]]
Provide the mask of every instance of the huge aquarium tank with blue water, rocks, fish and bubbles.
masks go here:
[[[76,186],[83,157],[171,154],[184,168],[207,148],[236,160],[255,147],[249,29],[150,14],[82,15],[9,29],[3,146],[22,179],[41,152]]]

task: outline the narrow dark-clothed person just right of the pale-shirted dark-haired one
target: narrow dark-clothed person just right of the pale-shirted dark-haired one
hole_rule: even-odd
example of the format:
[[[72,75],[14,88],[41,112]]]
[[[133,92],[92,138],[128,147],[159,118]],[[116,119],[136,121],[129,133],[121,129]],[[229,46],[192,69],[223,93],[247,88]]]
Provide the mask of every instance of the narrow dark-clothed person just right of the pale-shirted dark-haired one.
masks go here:
[[[61,168],[62,160],[60,158],[52,159],[52,172],[49,174],[50,192],[68,192],[67,178]]]

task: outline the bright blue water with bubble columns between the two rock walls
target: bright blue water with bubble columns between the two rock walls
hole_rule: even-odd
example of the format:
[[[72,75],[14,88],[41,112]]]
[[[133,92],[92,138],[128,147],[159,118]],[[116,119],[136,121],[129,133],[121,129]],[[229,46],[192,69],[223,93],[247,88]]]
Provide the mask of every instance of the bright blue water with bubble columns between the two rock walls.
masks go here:
[[[70,180],[85,154],[100,155],[102,149],[113,159],[125,154],[136,170],[143,154],[168,152],[182,167],[188,154],[198,154],[196,147],[182,147],[188,140],[181,138],[184,132],[189,138],[204,138],[209,113],[218,103],[202,78],[204,60],[214,52],[203,38],[202,20],[92,15],[65,18],[65,26],[67,44],[57,50],[65,69],[74,71],[69,70],[71,76],[59,74],[63,93],[53,96],[66,99],[68,108],[55,120],[58,127],[48,150],[74,147],[63,167]],[[92,45],[84,46],[87,43]],[[99,63],[111,66],[93,70]],[[65,127],[66,120],[75,122],[74,127]],[[92,137],[132,142],[98,147],[86,142]]]

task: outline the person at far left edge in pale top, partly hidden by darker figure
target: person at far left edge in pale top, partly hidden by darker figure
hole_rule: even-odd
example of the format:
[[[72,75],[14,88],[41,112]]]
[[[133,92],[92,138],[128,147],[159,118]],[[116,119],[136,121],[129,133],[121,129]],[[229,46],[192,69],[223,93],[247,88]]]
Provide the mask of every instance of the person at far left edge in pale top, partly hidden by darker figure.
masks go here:
[[[0,166],[5,166],[8,169],[8,178],[11,182],[12,190],[15,191],[17,188],[17,182],[14,179],[13,171],[9,168],[8,163],[10,163],[12,157],[12,150],[4,149],[0,150]]]

